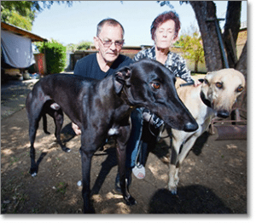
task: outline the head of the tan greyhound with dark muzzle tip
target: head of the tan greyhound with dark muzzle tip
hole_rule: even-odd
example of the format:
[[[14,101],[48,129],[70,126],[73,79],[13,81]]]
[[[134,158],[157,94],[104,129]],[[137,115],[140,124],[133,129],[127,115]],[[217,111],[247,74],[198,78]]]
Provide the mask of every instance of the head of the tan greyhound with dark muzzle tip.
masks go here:
[[[245,78],[232,68],[208,72],[201,86],[201,99],[217,112],[229,117],[236,98],[245,88]]]

